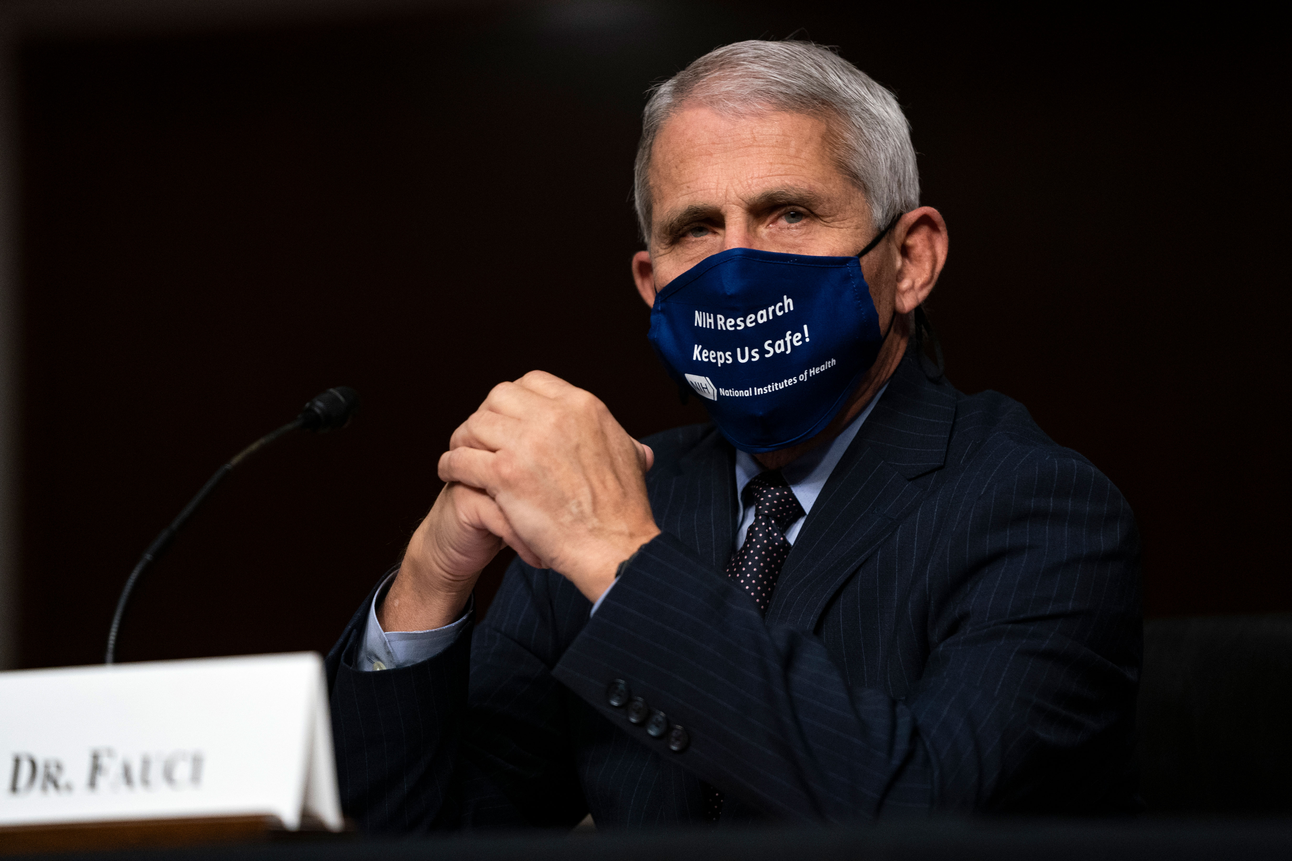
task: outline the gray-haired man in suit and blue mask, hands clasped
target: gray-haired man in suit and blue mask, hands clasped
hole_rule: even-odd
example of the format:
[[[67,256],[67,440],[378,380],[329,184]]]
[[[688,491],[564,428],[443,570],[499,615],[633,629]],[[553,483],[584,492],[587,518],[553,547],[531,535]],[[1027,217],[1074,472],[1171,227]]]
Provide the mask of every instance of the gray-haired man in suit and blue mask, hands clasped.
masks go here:
[[[348,813],[1128,809],[1134,522],[922,358],[947,230],[893,96],[817,45],[720,48],[652,94],[637,208],[651,339],[714,423],[638,443],[550,374],[490,392],[328,657]]]

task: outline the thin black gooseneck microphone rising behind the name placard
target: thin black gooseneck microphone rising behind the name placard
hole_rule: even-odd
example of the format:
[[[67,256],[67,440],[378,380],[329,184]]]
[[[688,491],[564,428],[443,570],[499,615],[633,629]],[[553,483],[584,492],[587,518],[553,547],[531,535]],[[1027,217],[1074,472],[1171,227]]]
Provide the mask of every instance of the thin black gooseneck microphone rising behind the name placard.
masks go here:
[[[140,577],[145,571],[152,567],[152,564],[162,558],[162,555],[171,547],[171,542],[174,541],[176,534],[183,528],[183,524],[189,522],[189,518],[196,512],[211,492],[225,479],[229,472],[233,471],[235,466],[242,463],[249,456],[255,454],[260,449],[265,448],[270,443],[278,440],[287,434],[291,434],[296,429],[304,429],[313,431],[315,434],[324,434],[332,430],[341,430],[350,423],[355,413],[359,412],[359,392],[349,386],[336,386],[335,389],[328,389],[314,400],[305,404],[301,408],[300,414],[283,425],[275,431],[265,434],[258,440],[244,448],[243,451],[234,454],[227,463],[216,470],[216,474],[202,485],[198,491],[198,496],[189,501],[189,505],[183,506],[183,510],[171,522],[171,525],[162,531],[149,549],[143,551],[140,562],[134,565],[134,571],[125,581],[125,586],[121,589],[121,596],[116,599],[116,612],[112,614],[112,627],[107,631],[107,652],[103,657],[103,663],[116,662],[116,635],[121,626],[121,616],[125,613],[125,605],[130,600],[130,593],[134,591],[134,585],[140,581]]]

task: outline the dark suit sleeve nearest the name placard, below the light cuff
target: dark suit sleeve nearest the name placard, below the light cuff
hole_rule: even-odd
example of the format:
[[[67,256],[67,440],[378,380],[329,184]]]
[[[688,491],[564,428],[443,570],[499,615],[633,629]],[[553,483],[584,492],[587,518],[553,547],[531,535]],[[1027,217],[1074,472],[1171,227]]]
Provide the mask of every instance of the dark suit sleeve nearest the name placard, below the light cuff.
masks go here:
[[[468,620],[438,654],[375,673],[357,666],[375,593],[364,599],[327,657],[341,807],[360,830],[571,827],[583,818],[563,688],[550,674],[549,585],[513,563],[486,623]]]

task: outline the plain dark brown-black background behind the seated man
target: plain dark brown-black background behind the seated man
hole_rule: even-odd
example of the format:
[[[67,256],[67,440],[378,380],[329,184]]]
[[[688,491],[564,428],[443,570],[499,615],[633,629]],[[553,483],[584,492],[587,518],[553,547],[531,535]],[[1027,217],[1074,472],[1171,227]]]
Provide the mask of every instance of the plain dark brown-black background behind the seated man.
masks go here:
[[[142,549],[327,386],[363,394],[358,422],[234,474],[141,587],[124,660],[326,651],[500,380],[550,370],[636,435],[702,421],[629,280],[643,90],[791,34],[907,110],[951,230],[948,376],[1121,488],[1147,614],[1292,611],[1266,31],[691,1],[28,37],[19,666],[102,660]]]

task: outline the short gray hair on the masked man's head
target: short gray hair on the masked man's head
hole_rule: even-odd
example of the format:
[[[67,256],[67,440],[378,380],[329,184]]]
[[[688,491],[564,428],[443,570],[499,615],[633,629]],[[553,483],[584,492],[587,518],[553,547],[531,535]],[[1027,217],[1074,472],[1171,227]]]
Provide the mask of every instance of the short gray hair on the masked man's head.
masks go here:
[[[651,147],[685,102],[724,114],[758,110],[822,116],[839,137],[844,174],[870,203],[876,230],[920,205],[911,125],[897,98],[829,48],[810,41],[738,41],[716,48],[651,88],[633,168],[633,203],[650,243]]]

